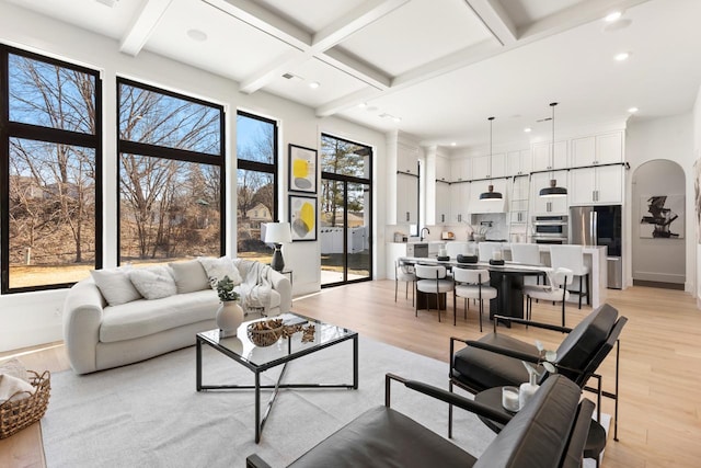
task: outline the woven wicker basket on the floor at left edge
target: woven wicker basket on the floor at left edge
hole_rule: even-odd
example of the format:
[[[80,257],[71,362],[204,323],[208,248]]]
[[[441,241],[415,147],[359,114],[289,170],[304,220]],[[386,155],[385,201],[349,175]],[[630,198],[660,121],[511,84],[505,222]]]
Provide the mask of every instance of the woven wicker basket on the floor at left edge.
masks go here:
[[[50,374],[45,370],[41,376],[34,370],[27,370],[30,384],[34,393],[20,400],[9,399],[0,404],[0,438],[7,438],[15,432],[22,431],[44,416],[51,390]],[[26,392],[16,392],[20,395]]]

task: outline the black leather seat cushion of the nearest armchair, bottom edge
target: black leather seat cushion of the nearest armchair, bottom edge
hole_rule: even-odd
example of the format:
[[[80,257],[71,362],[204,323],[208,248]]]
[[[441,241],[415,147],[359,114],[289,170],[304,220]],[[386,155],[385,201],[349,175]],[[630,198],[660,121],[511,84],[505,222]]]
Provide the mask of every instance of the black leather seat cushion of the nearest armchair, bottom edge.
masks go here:
[[[391,408],[372,408],[290,467],[460,467],[474,457]]]

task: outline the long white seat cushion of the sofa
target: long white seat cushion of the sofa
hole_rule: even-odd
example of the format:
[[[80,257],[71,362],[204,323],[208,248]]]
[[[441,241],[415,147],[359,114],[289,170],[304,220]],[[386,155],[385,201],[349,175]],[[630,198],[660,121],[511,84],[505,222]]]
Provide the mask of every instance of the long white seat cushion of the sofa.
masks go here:
[[[218,306],[219,298],[212,289],[108,306],[104,309],[100,341],[131,340],[214,319]]]

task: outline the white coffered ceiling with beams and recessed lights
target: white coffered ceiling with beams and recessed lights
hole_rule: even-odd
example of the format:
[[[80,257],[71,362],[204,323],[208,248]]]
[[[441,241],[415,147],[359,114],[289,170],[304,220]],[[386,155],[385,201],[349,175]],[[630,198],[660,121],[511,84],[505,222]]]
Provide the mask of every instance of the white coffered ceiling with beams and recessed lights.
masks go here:
[[[0,0],[423,145],[690,111],[698,0]],[[623,14],[618,22],[604,18]],[[630,58],[614,60],[629,53]],[[311,83],[319,87],[312,89]],[[530,127],[533,133],[524,134]]]

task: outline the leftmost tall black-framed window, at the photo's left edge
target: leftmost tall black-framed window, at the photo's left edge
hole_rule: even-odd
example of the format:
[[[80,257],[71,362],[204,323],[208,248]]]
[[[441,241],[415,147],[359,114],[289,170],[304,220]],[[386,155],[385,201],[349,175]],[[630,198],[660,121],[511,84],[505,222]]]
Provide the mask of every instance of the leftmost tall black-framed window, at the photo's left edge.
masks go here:
[[[101,266],[99,73],[0,45],[2,293]]]

